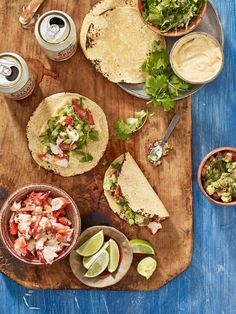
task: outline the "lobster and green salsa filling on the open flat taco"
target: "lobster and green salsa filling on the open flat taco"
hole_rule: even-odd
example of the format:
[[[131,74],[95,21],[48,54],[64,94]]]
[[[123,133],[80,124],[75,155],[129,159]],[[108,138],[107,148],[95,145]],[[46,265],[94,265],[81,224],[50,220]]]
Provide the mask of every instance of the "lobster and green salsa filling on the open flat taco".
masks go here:
[[[69,165],[70,156],[89,162],[93,156],[87,151],[88,141],[99,139],[92,112],[84,107],[83,97],[72,99],[62,111],[51,116],[46,130],[40,134],[45,153],[38,157],[62,168]]]

